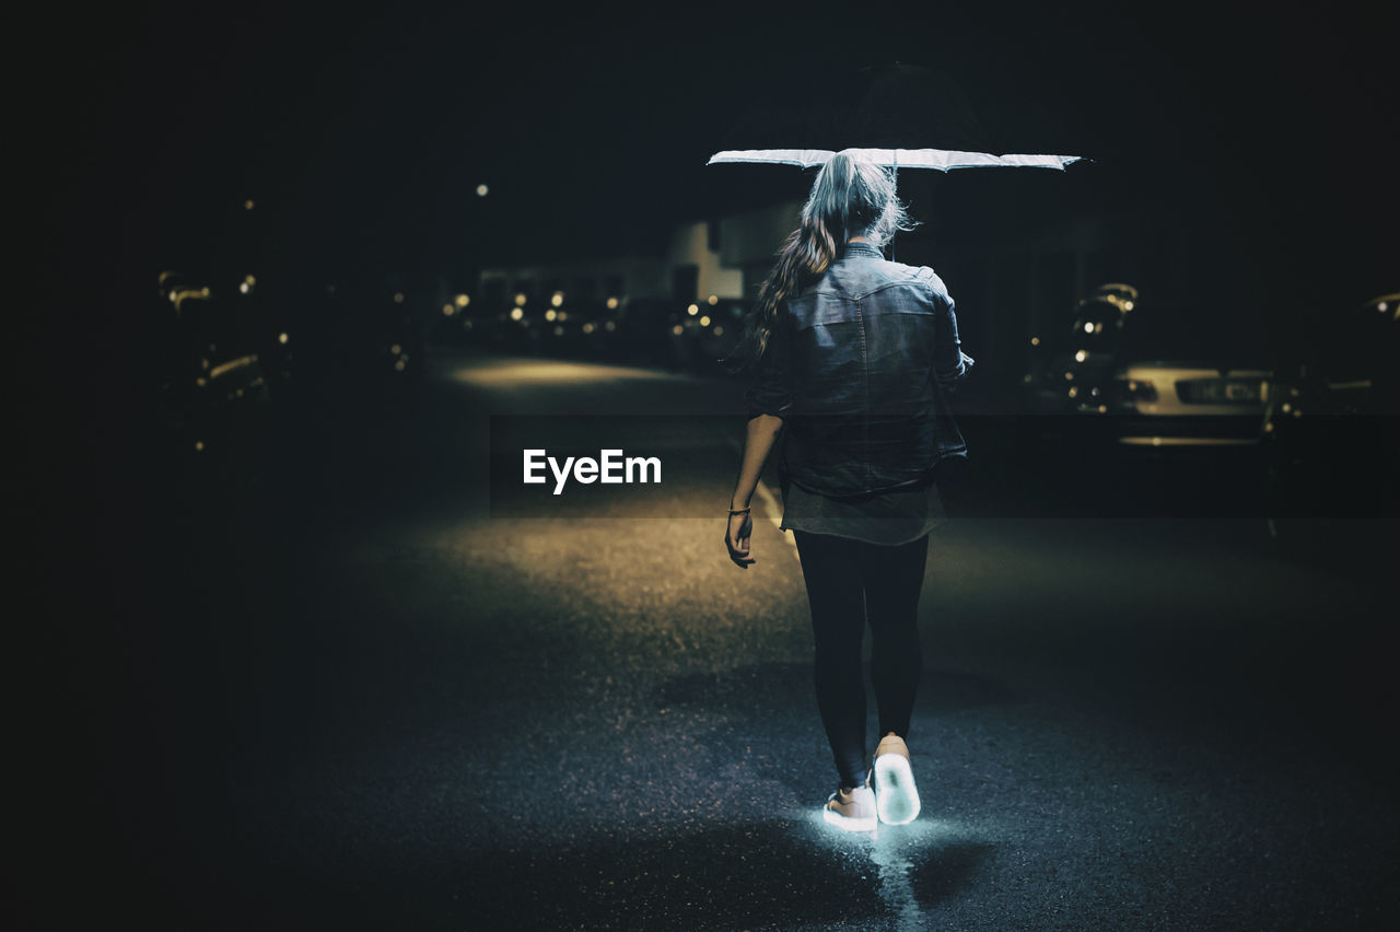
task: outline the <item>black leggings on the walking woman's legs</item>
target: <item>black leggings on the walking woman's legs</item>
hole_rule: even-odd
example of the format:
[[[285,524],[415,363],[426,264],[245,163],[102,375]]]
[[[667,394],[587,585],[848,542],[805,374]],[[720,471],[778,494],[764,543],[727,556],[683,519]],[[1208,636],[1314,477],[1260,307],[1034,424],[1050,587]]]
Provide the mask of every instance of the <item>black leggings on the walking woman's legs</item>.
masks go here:
[[[892,547],[795,528],[792,537],[812,606],[816,705],[841,785],[861,786],[867,772],[861,637],[869,620],[879,733],[906,737],[924,669],[918,593],[924,585],[928,535]]]

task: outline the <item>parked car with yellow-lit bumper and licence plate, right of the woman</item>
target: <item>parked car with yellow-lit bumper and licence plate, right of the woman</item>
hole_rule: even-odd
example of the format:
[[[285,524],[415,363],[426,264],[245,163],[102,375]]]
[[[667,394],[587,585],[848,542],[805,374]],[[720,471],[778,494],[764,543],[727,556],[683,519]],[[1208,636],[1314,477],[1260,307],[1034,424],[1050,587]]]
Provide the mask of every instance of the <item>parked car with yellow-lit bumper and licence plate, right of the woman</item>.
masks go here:
[[[1021,441],[1096,514],[1261,512],[1273,369],[1236,320],[1190,311],[1100,285],[1025,376]]]

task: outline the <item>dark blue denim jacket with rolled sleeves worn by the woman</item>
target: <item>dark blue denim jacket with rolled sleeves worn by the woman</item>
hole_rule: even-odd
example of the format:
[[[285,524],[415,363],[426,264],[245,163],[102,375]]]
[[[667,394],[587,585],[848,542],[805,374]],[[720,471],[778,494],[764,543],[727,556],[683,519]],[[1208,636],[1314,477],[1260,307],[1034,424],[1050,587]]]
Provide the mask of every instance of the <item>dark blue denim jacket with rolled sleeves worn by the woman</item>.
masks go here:
[[[972,365],[934,270],[854,242],[778,306],[745,403],[749,418],[784,420],[784,486],[868,495],[927,484],[939,460],[967,455],[948,397]]]

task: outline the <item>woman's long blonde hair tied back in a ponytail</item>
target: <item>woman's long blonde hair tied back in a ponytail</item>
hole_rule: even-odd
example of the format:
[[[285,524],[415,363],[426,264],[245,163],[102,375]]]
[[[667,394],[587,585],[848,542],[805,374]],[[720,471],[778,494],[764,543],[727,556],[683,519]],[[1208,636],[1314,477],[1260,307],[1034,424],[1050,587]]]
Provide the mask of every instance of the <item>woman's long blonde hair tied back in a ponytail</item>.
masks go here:
[[[851,236],[864,235],[876,249],[914,223],[895,193],[895,179],[885,168],[837,153],[812,181],[801,223],[778,249],[777,262],[759,288],[743,336],[725,362],[731,369],[752,368],[773,336],[777,309],[801,294],[846,252]]]

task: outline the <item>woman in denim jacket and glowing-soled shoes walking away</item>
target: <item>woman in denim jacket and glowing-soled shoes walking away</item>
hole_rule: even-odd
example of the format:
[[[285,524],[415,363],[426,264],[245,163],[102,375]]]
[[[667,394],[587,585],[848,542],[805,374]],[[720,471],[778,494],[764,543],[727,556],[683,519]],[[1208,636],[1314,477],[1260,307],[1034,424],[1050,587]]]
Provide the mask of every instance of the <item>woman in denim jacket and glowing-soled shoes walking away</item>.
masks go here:
[[[823,817],[853,831],[918,816],[906,740],[923,672],[928,532],[942,518],[935,467],[967,455],[948,403],[973,365],[953,301],[932,269],[881,252],[910,228],[890,175],[837,153],[728,360],[752,382],[725,546],[738,567],[755,563],[750,501],[781,435],[781,529],[792,532],[806,582],[816,702],[839,778]],[[867,623],[882,736],[869,765]]]

